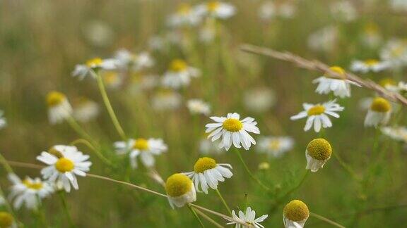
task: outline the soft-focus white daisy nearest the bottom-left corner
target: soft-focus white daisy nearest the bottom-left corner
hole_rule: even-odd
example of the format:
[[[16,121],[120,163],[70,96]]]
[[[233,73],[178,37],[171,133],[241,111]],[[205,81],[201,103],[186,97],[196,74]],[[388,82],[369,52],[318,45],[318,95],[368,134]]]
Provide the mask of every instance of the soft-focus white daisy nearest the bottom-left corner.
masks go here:
[[[14,199],[13,206],[17,209],[23,204],[28,209],[36,209],[41,203],[39,200],[54,191],[50,184],[42,182],[40,178],[25,177],[21,180],[12,173],[8,175],[8,179],[13,183],[9,197]]]

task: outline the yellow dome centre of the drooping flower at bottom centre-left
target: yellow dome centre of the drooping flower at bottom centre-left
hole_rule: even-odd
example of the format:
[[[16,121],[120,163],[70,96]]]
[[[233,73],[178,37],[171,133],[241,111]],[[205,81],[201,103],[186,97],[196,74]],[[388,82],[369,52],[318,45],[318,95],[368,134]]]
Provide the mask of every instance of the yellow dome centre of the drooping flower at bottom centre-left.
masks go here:
[[[171,175],[165,182],[165,191],[168,196],[172,197],[182,196],[191,191],[191,188],[191,179],[182,173]]]

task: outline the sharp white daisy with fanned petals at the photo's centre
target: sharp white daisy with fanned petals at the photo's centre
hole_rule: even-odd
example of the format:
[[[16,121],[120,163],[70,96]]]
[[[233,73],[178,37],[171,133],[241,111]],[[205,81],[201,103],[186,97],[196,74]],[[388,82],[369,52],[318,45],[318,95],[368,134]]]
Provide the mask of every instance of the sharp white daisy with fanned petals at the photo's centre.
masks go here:
[[[254,134],[260,134],[260,130],[256,127],[257,122],[254,118],[244,118],[240,120],[240,115],[238,113],[228,113],[227,117],[211,117],[211,120],[216,123],[210,123],[205,125],[206,133],[211,132],[208,135],[208,139],[211,138],[212,141],[216,141],[222,137],[219,144],[220,148],[225,148],[226,151],[229,150],[230,146],[235,146],[236,148],[243,148],[249,150],[250,146],[256,144],[253,137],[248,133],[252,132]]]

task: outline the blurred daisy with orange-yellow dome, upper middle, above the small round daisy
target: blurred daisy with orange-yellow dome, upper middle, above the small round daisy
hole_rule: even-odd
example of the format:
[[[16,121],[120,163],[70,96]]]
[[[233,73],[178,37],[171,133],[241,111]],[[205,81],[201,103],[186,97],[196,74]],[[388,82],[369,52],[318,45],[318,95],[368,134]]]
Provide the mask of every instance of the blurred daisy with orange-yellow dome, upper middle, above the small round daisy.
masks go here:
[[[187,62],[175,59],[170,63],[167,72],[163,76],[163,85],[172,89],[179,89],[189,85],[192,77],[199,77],[201,72],[190,67]]]

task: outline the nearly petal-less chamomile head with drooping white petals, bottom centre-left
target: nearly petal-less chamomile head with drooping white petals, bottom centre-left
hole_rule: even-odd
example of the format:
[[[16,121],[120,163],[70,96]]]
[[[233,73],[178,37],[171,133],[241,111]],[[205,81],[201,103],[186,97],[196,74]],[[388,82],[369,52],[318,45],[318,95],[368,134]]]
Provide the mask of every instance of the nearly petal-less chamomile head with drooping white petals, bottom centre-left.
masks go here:
[[[182,173],[176,173],[167,178],[165,191],[173,209],[182,208],[185,204],[196,201],[194,183]]]

